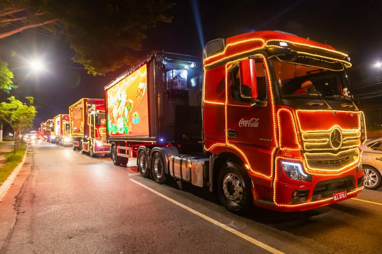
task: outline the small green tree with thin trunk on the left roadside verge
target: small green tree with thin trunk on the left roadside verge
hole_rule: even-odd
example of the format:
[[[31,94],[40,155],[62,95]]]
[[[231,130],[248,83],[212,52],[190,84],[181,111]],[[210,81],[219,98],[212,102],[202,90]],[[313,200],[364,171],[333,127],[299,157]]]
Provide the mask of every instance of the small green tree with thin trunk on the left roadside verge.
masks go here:
[[[16,152],[16,149],[19,147],[19,135],[33,125],[33,119],[37,113],[36,108],[32,106],[34,98],[25,97],[25,99],[28,100],[30,105],[16,100],[14,96],[8,98],[9,103],[0,103],[0,118],[8,122],[14,132],[14,152]]]

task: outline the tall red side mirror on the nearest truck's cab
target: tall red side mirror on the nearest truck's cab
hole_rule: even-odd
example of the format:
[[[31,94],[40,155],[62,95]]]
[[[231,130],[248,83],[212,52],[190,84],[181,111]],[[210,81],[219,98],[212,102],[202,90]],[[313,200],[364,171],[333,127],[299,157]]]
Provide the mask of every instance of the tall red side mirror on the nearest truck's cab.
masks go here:
[[[239,63],[240,70],[240,96],[242,98],[256,99],[257,79],[255,69],[255,59],[245,59]]]

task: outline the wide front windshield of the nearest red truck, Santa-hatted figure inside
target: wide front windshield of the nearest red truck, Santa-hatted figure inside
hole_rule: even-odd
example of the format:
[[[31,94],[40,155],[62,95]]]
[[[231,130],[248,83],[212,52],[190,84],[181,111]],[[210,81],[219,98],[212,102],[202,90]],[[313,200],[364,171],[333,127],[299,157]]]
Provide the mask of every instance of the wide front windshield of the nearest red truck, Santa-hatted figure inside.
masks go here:
[[[351,97],[344,71],[331,71],[278,60],[272,60],[272,64],[281,97],[305,97],[309,94]]]

